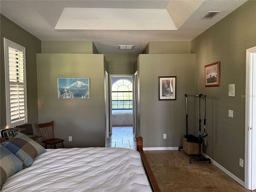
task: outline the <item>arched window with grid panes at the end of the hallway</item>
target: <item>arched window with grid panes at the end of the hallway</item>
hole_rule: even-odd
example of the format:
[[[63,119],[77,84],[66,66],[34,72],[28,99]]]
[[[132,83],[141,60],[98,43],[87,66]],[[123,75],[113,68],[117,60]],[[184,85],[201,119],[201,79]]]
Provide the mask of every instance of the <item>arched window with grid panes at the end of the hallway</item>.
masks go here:
[[[112,114],[132,113],[132,82],[119,79],[112,85]]]

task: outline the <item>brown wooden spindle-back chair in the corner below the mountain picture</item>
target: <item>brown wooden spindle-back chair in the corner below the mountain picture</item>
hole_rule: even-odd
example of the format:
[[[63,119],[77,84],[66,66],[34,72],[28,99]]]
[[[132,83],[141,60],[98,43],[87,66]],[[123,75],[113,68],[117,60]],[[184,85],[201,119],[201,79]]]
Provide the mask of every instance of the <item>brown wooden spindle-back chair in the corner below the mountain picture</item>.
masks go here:
[[[46,148],[47,145],[50,145],[51,148],[52,145],[54,145],[54,148],[56,148],[57,143],[62,143],[62,147],[64,148],[64,139],[55,138],[53,121],[48,123],[36,124],[36,126],[38,127],[38,130],[44,140],[44,148]]]

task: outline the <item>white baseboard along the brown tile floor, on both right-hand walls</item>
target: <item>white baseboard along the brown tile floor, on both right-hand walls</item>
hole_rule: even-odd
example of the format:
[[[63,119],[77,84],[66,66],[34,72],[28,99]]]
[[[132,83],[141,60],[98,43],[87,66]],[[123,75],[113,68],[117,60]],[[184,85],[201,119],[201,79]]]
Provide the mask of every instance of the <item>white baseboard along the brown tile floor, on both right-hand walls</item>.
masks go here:
[[[178,150],[179,147],[144,147],[144,151],[158,151],[158,150]],[[210,158],[206,154],[202,154],[205,158]],[[214,161],[212,158],[210,158],[212,164],[214,164],[216,167],[218,167],[220,170],[222,170],[224,173],[226,173],[228,176],[230,176],[232,179],[234,179],[236,182],[238,182],[240,185],[244,187],[244,181],[242,181],[240,178],[232,174],[230,171],[226,170],[223,166],[218,164],[216,161]]]

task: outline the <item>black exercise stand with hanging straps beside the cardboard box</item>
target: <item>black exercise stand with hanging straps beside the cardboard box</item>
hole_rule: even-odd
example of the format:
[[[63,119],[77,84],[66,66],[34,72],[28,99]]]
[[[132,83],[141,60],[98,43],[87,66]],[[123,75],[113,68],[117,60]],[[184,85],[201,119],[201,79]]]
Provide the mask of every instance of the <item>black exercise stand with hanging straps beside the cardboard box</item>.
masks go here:
[[[185,94],[186,96],[186,135],[184,136],[184,138],[186,138],[187,142],[194,142],[194,143],[199,143],[199,158],[191,158],[189,160],[189,163],[191,164],[192,161],[208,161],[209,163],[211,163],[210,158],[202,158],[202,154],[201,154],[201,144],[203,142],[203,138],[205,138],[206,136],[208,136],[205,127],[206,127],[206,95],[204,94],[199,94],[199,95],[189,95],[189,94]],[[198,96],[199,98],[199,136],[196,137],[194,135],[188,135],[188,101],[187,98],[188,96]],[[204,99],[204,132],[201,135],[201,98]],[[182,149],[182,147],[179,147],[179,151],[180,149]]]

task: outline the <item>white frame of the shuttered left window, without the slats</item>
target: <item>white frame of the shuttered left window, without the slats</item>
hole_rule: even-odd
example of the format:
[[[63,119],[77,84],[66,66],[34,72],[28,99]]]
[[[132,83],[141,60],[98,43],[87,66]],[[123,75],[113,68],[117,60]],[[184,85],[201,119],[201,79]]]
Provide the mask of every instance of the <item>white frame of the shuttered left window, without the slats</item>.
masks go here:
[[[24,76],[23,76],[23,83],[19,82],[19,80],[17,80],[17,82],[13,82],[10,81],[10,66],[9,66],[9,47],[15,50],[18,50],[20,52],[22,52],[23,54],[23,70],[24,70]],[[15,127],[15,126],[19,126],[21,124],[25,124],[28,122],[28,107],[27,107],[27,85],[26,85],[26,48],[15,43],[12,42],[11,40],[8,40],[6,38],[4,38],[4,68],[5,68],[5,96],[6,96],[6,128],[11,128],[11,127]],[[20,69],[20,67],[19,67]],[[18,70],[17,72],[20,73],[20,70]],[[20,75],[19,75],[20,77]],[[11,119],[11,90],[10,90],[10,86],[23,86],[24,89],[24,117],[22,116],[22,118],[17,118],[15,120]],[[19,89],[17,89],[19,90]],[[18,92],[19,94],[19,92]],[[22,94],[22,95],[23,95]],[[19,100],[19,98],[21,98],[20,96],[17,96],[17,99]],[[19,105],[19,106],[23,106],[23,105]],[[18,109],[19,112],[21,111],[21,109]],[[23,109],[22,109],[23,110]]]

